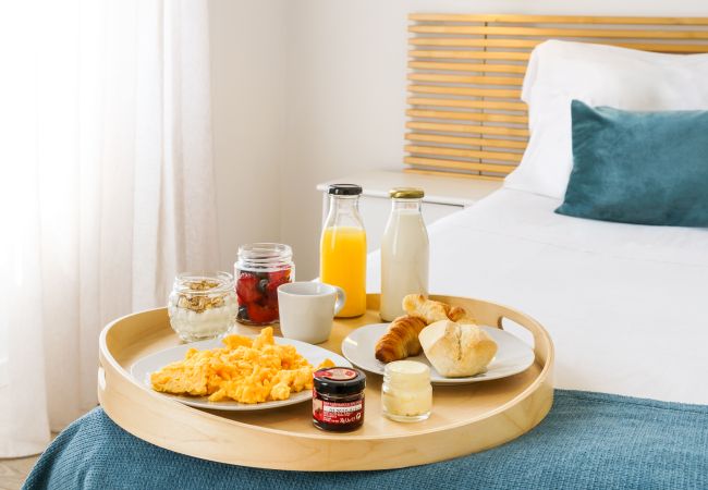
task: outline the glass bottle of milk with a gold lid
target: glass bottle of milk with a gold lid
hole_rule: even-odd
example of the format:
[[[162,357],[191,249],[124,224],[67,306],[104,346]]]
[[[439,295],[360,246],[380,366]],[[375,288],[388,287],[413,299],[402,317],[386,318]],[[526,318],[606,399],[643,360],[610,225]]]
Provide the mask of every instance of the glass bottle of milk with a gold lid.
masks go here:
[[[428,294],[428,232],[420,215],[420,188],[399,187],[389,193],[391,215],[381,241],[381,319],[404,315],[407,294]]]

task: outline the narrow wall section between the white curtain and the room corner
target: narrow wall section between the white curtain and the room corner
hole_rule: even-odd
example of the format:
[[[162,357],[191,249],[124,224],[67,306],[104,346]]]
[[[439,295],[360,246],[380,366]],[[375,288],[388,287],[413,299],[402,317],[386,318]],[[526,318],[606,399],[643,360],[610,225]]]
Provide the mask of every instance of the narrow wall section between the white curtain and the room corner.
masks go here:
[[[285,0],[209,0],[220,267],[239,244],[280,241]]]

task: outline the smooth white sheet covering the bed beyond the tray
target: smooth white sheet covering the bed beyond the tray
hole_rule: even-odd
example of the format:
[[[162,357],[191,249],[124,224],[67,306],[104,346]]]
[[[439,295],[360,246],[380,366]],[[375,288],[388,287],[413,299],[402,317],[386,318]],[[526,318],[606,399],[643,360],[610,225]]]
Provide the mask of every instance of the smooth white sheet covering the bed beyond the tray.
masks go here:
[[[505,188],[432,224],[430,291],[540,321],[558,388],[708,404],[708,230],[569,218],[559,204]],[[369,291],[379,278],[375,253]]]

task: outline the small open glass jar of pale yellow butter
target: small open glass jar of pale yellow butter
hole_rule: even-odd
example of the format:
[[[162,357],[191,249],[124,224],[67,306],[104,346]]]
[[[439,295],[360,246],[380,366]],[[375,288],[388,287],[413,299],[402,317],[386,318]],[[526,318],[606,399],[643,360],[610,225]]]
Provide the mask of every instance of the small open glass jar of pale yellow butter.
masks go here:
[[[386,365],[381,388],[383,415],[395,421],[419,421],[430,416],[430,368],[415,360]]]

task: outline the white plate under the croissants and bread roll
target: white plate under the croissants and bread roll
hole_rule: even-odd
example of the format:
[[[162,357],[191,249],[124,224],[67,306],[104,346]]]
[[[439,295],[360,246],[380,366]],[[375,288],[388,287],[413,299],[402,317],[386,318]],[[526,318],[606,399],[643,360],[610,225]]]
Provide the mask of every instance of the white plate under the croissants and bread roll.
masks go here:
[[[375,347],[378,340],[386,333],[389,323],[374,323],[361,327],[349,334],[342,342],[342,354],[354,366],[377,375],[383,375],[383,363],[375,355]],[[522,372],[534,364],[534,351],[516,336],[503,330],[492,327],[480,327],[497,342],[499,346],[497,355],[487,366],[487,371],[466,378],[445,378],[430,365],[430,362],[420,354],[408,357],[411,360],[419,360],[430,366],[430,381],[434,384],[466,384],[491,379],[505,378]]]

